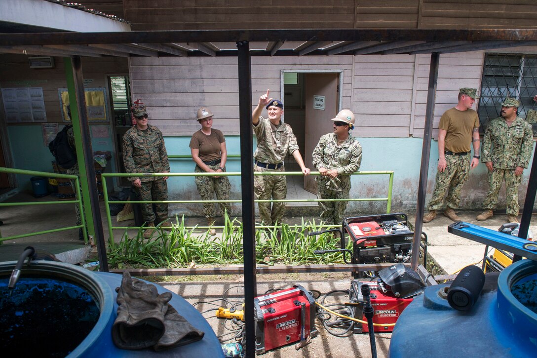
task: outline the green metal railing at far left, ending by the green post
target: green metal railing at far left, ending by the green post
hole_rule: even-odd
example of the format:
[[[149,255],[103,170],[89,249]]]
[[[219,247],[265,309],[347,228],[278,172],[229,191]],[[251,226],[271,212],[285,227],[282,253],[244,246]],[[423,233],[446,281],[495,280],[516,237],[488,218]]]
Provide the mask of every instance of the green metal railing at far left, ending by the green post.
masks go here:
[[[23,170],[23,169],[12,169],[12,168],[2,168],[0,167],[0,173],[9,173],[9,174],[23,174],[23,175],[32,175],[32,176],[44,176],[47,178],[64,178],[64,179],[72,179],[75,181],[75,190],[76,192],[76,198],[75,200],[66,200],[66,201],[54,201],[54,202],[16,202],[16,203],[0,203],[0,207],[4,206],[22,206],[22,205],[54,205],[54,204],[78,204],[79,210],[80,210],[80,217],[82,224],[81,225],[75,225],[75,226],[68,226],[68,227],[61,227],[56,228],[52,230],[42,230],[27,234],[20,234],[20,235],[11,235],[7,237],[0,238],[0,242],[6,241],[6,240],[12,240],[12,239],[19,239],[19,238],[26,238],[30,236],[35,235],[42,235],[42,234],[49,234],[53,232],[60,232],[60,231],[66,231],[66,230],[72,230],[75,228],[82,228],[86,227],[86,221],[84,218],[84,211],[82,208],[82,201],[80,200],[81,194],[80,194],[80,185],[78,183],[78,176],[76,175],[69,175],[69,174],[57,174],[57,173],[47,173],[45,171],[34,171],[34,170]],[[82,230],[84,234],[84,242],[86,244],[88,243],[88,235],[86,234],[86,230]]]

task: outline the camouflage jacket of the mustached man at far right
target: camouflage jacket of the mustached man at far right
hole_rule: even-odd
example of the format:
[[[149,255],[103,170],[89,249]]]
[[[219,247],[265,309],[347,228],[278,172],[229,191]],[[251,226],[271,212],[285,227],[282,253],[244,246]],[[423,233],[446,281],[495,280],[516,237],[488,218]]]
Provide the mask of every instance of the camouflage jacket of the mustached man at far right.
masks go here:
[[[492,149],[491,149],[492,147]],[[533,149],[531,124],[517,117],[511,126],[498,117],[490,121],[481,146],[481,161],[498,169],[527,168]]]

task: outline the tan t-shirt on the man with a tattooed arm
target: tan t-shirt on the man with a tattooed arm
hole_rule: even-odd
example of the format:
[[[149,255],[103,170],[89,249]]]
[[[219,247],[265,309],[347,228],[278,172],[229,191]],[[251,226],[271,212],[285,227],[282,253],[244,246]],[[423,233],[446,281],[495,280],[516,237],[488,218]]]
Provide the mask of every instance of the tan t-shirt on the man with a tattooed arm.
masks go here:
[[[473,109],[459,111],[449,109],[442,114],[438,128],[445,130],[446,151],[453,153],[469,152],[471,146],[471,133],[479,127],[479,117]]]

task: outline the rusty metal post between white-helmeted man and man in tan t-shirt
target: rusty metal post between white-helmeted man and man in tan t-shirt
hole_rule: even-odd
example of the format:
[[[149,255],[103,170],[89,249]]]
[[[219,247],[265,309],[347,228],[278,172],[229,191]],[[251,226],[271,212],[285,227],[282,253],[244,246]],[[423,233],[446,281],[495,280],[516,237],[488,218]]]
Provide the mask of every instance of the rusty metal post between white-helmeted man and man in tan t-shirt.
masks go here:
[[[418,269],[419,246],[422,238],[423,212],[425,209],[425,194],[427,191],[427,176],[429,175],[429,161],[431,158],[431,139],[434,121],[434,101],[436,99],[436,86],[438,82],[438,64],[440,54],[431,54],[431,68],[429,69],[429,87],[427,89],[427,107],[425,108],[425,127],[423,128],[422,165],[419,169],[418,202],[416,205],[416,222],[414,223],[414,241],[412,245],[412,261],[410,267]],[[416,69],[414,69],[416,70]]]

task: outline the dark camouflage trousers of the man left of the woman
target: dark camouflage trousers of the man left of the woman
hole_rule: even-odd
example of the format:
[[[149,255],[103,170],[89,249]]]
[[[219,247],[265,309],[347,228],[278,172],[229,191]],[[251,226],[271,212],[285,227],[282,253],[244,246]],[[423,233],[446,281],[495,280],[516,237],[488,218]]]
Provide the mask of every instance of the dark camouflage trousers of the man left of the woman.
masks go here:
[[[168,183],[162,178],[149,182],[142,182],[141,188],[134,187],[136,197],[140,201],[163,201],[168,200]],[[142,209],[142,217],[146,223],[155,223],[155,213],[158,221],[168,219],[168,204],[155,204],[155,212],[153,212],[153,204],[140,204]],[[157,223],[158,224],[158,223]]]

